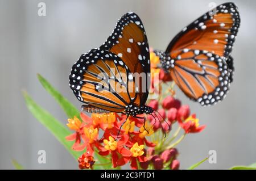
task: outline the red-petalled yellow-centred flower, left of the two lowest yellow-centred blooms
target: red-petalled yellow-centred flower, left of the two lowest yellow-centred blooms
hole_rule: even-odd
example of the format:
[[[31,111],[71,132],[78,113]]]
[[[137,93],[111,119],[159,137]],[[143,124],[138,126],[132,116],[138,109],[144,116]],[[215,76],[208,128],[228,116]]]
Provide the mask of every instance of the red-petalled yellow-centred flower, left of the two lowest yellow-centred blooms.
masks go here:
[[[112,164],[113,167],[121,166],[121,162],[118,162],[118,154],[121,154],[122,157],[130,157],[131,152],[124,148],[126,142],[128,141],[129,136],[127,134],[124,134],[122,138],[118,141],[115,141],[112,136],[109,136],[108,140],[104,139],[103,142],[105,144],[104,148],[100,148],[99,154],[100,155],[112,155]],[[125,162],[122,162],[122,165],[127,163],[129,161],[126,159]],[[119,164],[118,164],[119,163]]]

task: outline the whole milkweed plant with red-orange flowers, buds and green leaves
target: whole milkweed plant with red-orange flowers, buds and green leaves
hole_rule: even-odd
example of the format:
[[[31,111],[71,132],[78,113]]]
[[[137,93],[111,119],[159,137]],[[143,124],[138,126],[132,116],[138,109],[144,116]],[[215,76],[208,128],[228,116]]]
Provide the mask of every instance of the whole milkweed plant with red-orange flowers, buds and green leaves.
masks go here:
[[[159,77],[159,83],[154,86],[154,76],[151,76],[150,94],[158,96],[148,99],[147,106],[154,108],[159,116],[140,115],[146,118],[145,123],[144,119],[130,116],[122,125],[126,115],[114,112],[86,115],[40,74],[40,83],[66,113],[67,125],[40,107],[26,91],[23,91],[23,96],[28,110],[71,153],[79,169],[122,169],[122,166],[128,165],[130,169],[177,170],[180,168],[180,154],[176,146],[185,137],[204,131],[205,125],[200,125],[195,113],[191,113],[189,106],[176,97],[175,83],[170,74],[158,67],[159,57],[151,52],[150,59],[151,74]],[[163,90],[163,87],[167,88]],[[118,132],[116,138],[114,135]],[[195,163],[189,169],[195,169],[206,160]],[[232,167],[255,168],[256,165]]]

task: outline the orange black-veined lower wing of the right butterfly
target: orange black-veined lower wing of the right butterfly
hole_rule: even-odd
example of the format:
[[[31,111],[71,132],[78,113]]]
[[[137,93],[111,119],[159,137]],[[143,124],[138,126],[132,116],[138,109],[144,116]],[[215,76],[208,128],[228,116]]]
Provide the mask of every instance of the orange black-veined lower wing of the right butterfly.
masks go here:
[[[185,95],[202,106],[225,98],[230,86],[230,72],[222,57],[206,50],[183,51],[178,57],[170,74]]]

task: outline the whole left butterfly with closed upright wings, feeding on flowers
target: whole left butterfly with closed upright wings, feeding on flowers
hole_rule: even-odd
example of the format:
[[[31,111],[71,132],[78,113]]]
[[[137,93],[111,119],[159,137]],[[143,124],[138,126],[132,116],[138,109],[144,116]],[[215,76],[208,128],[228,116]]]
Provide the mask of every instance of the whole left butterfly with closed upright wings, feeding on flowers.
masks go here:
[[[136,73],[144,75],[143,81]],[[87,112],[117,112],[127,118],[154,112],[145,105],[150,87],[150,51],[137,14],[123,15],[100,48],[80,56],[72,66],[69,86]]]

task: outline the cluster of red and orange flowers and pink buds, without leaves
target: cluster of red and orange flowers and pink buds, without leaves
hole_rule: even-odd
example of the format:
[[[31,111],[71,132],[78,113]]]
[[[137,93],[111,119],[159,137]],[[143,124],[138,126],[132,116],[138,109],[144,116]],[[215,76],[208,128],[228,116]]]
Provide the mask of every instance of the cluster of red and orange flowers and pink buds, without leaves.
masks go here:
[[[145,123],[144,119],[135,117],[129,117],[124,123],[126,115],[121,116],[113,112],[92,113],[90,117],[81,113],[81,120],[76,116],[68,119],[67,126],[75,133],[66,139],[75,141],[73,150],[86,150],[78,158],[80,169],[93,169],[94,163],[97,164],[97,161],[94,161],[94,153],[97,152],[102,157],[110,158],[114,168],[130,163],[131,169],[176,170],[179,169],[180,163],[175,146],[185,135],[201,132],[205,128],[205,125],[199,125],[195,114],[191,115],[189,106],[182,105],[180,100],[175,98],[170,75],[159,69],[159,57],[151,52],[150,58],[151,72],[159,77],[160,86],[157,91],[154,90],[154,76],[151,76],[151,88],[159,98],[151,99],[147,103],[147,106],[154,108],[154,115],[138,115],[146,117]],[[170,82],[171,85],[168,85]],[[171,87],[167,94],[162,92],[163,84]],[[178,129],[170,138],[167,134],[170,134],[175,123]],[[183,135],[176,139],[182,129]]]

